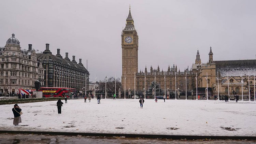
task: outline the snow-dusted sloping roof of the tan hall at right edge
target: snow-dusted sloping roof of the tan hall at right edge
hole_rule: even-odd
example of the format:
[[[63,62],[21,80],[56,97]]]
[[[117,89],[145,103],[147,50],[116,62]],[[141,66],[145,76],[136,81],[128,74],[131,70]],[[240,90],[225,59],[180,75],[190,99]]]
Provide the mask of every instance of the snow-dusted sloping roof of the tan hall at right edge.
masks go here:
[[[253,75],[256,69],[256,59],[249,60],[221,60],[214,61],[216,64],[216,73],[219,71],[221,76],[240,76],[248,73]]]

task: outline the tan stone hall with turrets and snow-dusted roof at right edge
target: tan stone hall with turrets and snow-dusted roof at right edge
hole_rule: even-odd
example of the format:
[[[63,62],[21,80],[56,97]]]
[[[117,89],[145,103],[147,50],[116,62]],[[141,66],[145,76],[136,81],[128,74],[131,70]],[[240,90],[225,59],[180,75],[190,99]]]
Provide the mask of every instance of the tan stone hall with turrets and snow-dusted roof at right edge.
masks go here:
[[[217,95],[219,89],[219,95],[228,95],[229,93],[230,96],[234,94],[241,96],[243,91],[243,95],[248,96],[250,85],[250,95],[254,96],[253,75],[255,69],[256,60],[253,59],[214,61],[211,47],[207,63],[201,63],[197,51],[196,61],[192,65],[192,70],[198,77],[198,87],[206,88],[208,85],[212,95]],[[250,76],[249,79],[248,75]],[[208,84],[205,77],[208,77]]]

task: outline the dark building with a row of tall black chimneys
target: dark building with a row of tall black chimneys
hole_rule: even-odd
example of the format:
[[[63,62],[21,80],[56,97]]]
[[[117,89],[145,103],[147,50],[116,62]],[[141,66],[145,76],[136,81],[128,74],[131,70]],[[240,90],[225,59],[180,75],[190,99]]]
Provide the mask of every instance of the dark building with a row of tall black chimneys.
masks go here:
[[[83,66],[82,59],[79,59],[79,63],[77,63],[75,56],[73,56],[71,61],[68,53],[66,53],[65,58],[62,58],[60,49],[57,49],[55,56],[49,50],[49,44],[46,44],[46,49],[43,53],[37,54],[37,59],[45,68],[45,87],[67,87],[82,91],[86,85],[88,90],[89,72]]]

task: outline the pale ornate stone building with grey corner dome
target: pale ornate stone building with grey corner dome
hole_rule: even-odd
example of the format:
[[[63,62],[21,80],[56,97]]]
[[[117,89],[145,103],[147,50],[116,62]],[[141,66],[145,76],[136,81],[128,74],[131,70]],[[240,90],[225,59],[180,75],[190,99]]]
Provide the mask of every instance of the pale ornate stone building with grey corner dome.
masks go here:
[[[12,34],[0,52],[0,92],[17,93],[19,88],[33,89],[34,82],[44,81],[44,68],[37,61],[32,44],[22,50],[20,42]]]

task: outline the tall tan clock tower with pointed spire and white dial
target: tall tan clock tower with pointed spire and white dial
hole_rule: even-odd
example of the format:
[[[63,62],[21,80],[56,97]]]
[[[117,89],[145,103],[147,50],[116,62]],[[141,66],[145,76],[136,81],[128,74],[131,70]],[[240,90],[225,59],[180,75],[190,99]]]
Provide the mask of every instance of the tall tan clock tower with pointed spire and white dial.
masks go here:
[[[131,8],[126,19],[126,26],[122,31],[122,87],[126,90],[134,89],[134,72],[138,72],[139,37],[134,28]],[[126,80],[125,80],[126,77]],[[125,82],[126,81],[126,82]],[[126,84],[125,84],[126,83]]]

